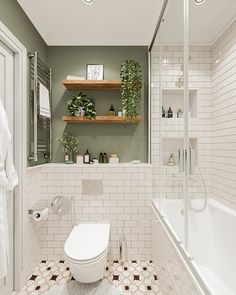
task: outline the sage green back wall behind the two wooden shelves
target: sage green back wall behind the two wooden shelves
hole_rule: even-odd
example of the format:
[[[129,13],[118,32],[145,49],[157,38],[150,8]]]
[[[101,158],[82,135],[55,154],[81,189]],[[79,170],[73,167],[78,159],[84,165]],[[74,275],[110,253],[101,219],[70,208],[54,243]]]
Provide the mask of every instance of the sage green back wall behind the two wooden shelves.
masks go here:
[[[62,116],[67,114],[66,101],[72,91],[64,88],[61,81],[67,74],[86,75],[86,64],[103,64],[104,79],[120,79],[120,65],[126,59],[138,61],[142,67],[144,86],[142,90],[141,115],[142,122],[133,128],[132,125],[80,125],[66,124]],[[64,154],[57,138],[68,131],[79,137],[80,153],[89,149],[93,157],[100,152],[118,153],[121,162],[140,159],[147,161],[147,76],[148,56],[147,47],[58,47],[48,50],[49,66],[53,69],[53,162],[63,162]],[[113,103],[117,110],[121,106],[119,91],[85,91],[95,99],[98,114],[108,112]]]

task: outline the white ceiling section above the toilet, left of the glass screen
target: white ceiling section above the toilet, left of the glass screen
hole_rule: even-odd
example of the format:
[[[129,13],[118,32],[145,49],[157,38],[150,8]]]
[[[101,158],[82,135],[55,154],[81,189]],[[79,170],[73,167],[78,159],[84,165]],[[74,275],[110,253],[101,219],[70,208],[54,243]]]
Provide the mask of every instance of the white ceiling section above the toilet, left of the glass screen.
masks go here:
[[[17,0],[48,45],[149,45],[163,0]]]

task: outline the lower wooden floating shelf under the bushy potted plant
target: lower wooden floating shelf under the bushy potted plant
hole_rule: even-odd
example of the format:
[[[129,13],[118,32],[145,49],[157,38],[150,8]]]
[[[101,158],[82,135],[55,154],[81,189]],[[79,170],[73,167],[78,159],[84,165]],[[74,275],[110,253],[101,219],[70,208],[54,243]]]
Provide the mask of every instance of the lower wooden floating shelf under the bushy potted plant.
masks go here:
[[[118,116],[97,116],[95,119],[87,119],[76,116],[63,116],[62,120],[67,123],[74,124],[132,124],[131,119]],[[134,123],[138,124],[141,120],[142,117],[137,116]]]

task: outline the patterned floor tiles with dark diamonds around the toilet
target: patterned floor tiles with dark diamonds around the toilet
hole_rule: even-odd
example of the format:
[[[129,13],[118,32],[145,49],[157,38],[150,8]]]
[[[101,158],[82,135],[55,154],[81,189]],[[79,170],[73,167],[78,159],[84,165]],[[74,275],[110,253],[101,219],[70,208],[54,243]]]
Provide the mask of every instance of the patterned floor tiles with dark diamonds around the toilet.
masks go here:
[[[51,287],[69,283],[71,280],[74,279],[65,261],[42,260],[27,284],[12,295],[41,295]],[[152,261],[108,262],[103,282],[113,284],[124,295],[160,294],[158,275]]]

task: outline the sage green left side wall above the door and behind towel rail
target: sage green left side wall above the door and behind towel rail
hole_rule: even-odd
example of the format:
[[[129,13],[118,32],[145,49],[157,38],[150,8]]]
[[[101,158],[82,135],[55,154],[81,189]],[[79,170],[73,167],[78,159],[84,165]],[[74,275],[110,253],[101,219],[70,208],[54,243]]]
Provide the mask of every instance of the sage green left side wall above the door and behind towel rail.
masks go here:
[[[47,64],[48,47],[16,0],[0,0],[0,21],[26,47],[28,52],[38,51],[41,60]],[[27,82],[29,82],[29,76]],[[30,110],[29,92],[28,110]],[[32,127],[28,125],[28,133],[29,129],[32,129]],[[45,159],[39,158],[37,164],[45,162]],[[30,166],[35,165],[34,162],[29,162],[28,164]]]

